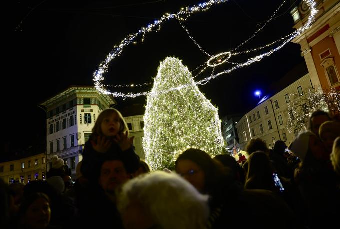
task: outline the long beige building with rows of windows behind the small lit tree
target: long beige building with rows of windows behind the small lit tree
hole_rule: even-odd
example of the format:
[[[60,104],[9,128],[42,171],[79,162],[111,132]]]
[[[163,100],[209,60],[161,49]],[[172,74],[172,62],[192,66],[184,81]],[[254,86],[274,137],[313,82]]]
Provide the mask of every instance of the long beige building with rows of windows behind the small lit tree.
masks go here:
[[[311,86],[310,76],[306,74],[275,95],[262,98],[236,124],[241,150],[245,150],[252,138],[261,138],[269,149],[277,140],[283,140],[289,145],[298,134],[296,130],[287,129],[290,95],[298,93],[303,96]]]

